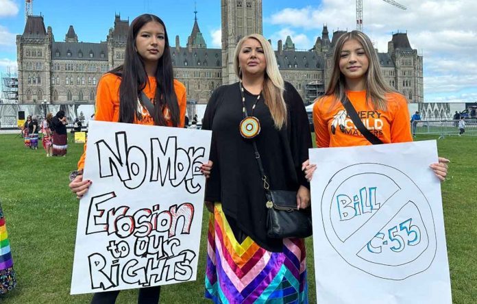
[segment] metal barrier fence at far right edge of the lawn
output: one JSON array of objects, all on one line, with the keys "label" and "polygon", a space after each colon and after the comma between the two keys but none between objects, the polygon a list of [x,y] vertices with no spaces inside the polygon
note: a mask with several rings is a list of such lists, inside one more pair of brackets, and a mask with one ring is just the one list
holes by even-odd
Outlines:
[{"label": "metal barrier fence at far right edge of the lawn", "polygon": [[477,119],[465,119],[464,132],[459,128],[459,121],[414,121],[411,123],[413,134],[436,134],[445,136],[477,136]]}]

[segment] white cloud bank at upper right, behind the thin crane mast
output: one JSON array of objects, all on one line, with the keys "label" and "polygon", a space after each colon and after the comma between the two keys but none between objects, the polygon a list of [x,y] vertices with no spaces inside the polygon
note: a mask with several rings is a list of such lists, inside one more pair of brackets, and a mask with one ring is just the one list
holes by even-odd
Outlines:
[{"label": "white cloud bank at upper right, behind the thin crane mast", "polygon": [[[400,10],[382,0],[363,0],[364,31],[380,52],[387,51],[392,33],[407,31],[413,49],[424,55],[425,95],[443,99],[474,99],[477,94],[477,1],[475,0],[397,0]],[[292,5],[291,5],[292,6]],[[330,36],[337,29],[356,28],[354,1],[323,0],[317,6],[284,8],[264,18],[275,25],[275,33],[307,34],[313,47],[323,24]],[[313,34],[309,34],[313,31]],[[280,36],[284,40],[286,36]],[[293,38],[293,37],[292,37]],[[306,43],[306,39],[300,37]],[[295,39],[293,39],[295,42]],[[297,44],[297,42],[295,42]],[[464,93],[466,90],[476,92]],[[474,95],[472,95],[474,94]],[[472,96],[472,97],[470,97]],[[440,98],[440,97],[439,97]],[[427,97],[426,97],[427,99]]]}]

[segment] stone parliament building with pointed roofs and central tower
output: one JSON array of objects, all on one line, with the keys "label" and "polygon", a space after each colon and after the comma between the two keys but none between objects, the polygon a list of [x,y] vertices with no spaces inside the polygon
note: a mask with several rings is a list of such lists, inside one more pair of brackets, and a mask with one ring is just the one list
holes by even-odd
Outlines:
[{"label": "stone parliament building with pointed roofs and central tower", "polygon": [[[129,21],[116,15],[106,41],[79,42],[73,25],[64,40],[58,41],[53,29],[45,27],[43,16],[28,16],[23,34],[16,36],[18,105],[32,105],[31,112],[42,114],[39,104],[45,101],[49,106],[61,105],[70,113],[77,105],[94,104],[101,75],[123,63],[128,28]],[[175,77],[187,88],[188,109],[206,104],[217,86],[236,81],[234,48],[241,37],[262,34],[262,0],[221,0],[221,28],[221,49],[207,47],[197,18],[185,46],[181,46],[179,36],[175,41],[169,37]],[[324,93],[332,50],[343,33],[334,31],[330,38],[328,28],[323,26],[321,36],[308,51],[295,49],[290,36],[284,43],[278,40],[275,53],[280,72],[305,103]],[[389,84],[410,102],[423,102],[423,58],[412,49],[407,34],[393,34],[387,53],[378,53],[378,57]]]}]

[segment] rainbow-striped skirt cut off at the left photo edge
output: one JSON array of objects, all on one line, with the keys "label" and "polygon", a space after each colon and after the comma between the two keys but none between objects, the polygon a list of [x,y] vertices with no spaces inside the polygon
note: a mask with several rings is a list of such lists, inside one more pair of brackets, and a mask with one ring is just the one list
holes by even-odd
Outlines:
[{"label": "rainbow-striped skirt cut off at the left photo edge", "polygon": [[7,226],[0,205],[0,294],[6,294],[16,286],[12,253],[8,242]]}]

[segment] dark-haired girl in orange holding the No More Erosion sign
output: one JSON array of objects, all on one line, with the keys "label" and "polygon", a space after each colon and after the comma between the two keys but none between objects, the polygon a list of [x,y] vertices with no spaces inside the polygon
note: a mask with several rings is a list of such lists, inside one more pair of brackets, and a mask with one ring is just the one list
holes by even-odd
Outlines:
[{"label": "dark-haired girl in orange holding the No More Erosion sign", "polygon": [[[173,77],[169,38],[164,22],[153,14],[143,14],[132,21],[127,33],[124,62],[99,80],[96,98],[96,121],[184,127],[186,87]],[[151,112],[140,101],[144,92],[151,103]],[[86,147],[85,150],[86,151]],[[93,181],[83,180],[86,152],[78,162],[78,170],[70,175],[69,187],[81,198]],[[211,164],[203,164],[206,177]],[[92,304],[116,302],[119,290],[97,292]],[[156,304],[160,286],[140,288],[138,304]]]}]

